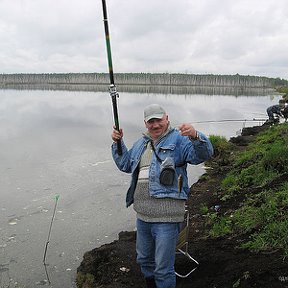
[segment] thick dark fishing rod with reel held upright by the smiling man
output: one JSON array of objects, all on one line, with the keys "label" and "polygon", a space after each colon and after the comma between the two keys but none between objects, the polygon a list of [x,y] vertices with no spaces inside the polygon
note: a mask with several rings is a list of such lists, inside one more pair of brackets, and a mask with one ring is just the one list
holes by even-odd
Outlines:
[{"label": "thick dark fishing rod with reel held upright by the smiling man", "polygon": [[[110,86],[109,92],[112,99],[113,106],[113,115],[114,115],[114,126],[117,131],[120,131],[119,118],[118,118],[118,109],[117,109],[117,98],[119,94],[117,93],[116,86],[114,83],[114,73],[113,73],[113,65],[112,65],[112,53],[111,53],[111,44],[110,44],[110,35],[109,35],[109,27],[108,27],[108,17],[107,17],[107,8],[106,1],[102,0],[103,6],[103,20],[104,20],[104,29],[105,29],[105,37],[106,37],[106,48],[107,48],[107,58],[108,58],[108,68],[109,68],[109,76],[110,76]],[[118,155],[122,155],[122,146],[121,140],[117,140],[117,153]]]}]

